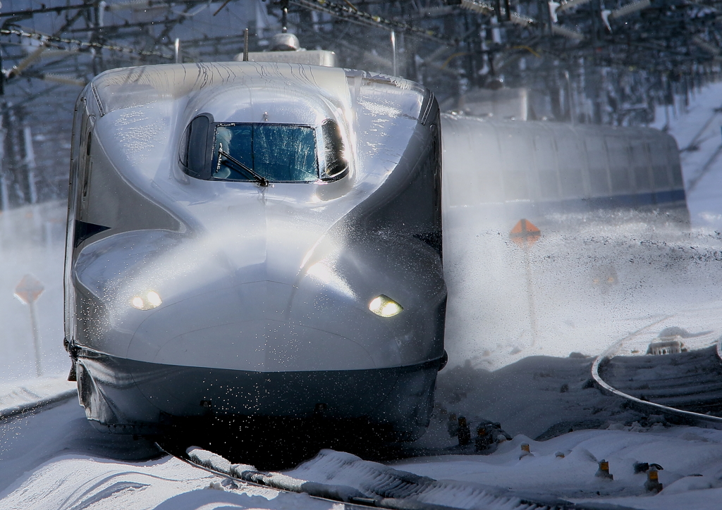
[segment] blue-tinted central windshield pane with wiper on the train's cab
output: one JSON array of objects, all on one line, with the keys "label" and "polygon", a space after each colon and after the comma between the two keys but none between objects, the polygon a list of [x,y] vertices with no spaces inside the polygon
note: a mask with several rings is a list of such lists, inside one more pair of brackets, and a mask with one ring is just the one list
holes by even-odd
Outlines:
[{"label": "blue-tinted central windshield pane with wiper on the train's cab", "polygon": [[211,177],[261,184],[318,180],[316,131],[268,123],[219,125]]}]

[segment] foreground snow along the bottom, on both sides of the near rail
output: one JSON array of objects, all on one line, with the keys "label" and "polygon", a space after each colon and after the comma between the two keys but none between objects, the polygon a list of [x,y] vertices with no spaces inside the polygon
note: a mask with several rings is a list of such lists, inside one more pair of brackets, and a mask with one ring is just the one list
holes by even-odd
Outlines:
[{"label": "foreground snow along the bottom, on both sides of the near rail", "polygon": [[[521,449],[524,443],[529,454]],[[230,483],[161,456],[144,439],[100,434],[75,400],[7,421],[0,444],[0,509],[343,508],[304,494]],[[609,462],[613,480],[596,476],[602,460]],[[661,493],[645,490],[647,475],[635,474],[635,462],[664,468],[658,471]],[[715,509],[722,496],[722,431],[618,424],[548,441],[520,434],[489,455],[418,457],[387,465],[393,470],[325,450],[285,474],[355,488],[371,498],[404,496],[458,508],[536,508],[522,504],[524,498],[588,508],[604,503],[608,509]]]}]

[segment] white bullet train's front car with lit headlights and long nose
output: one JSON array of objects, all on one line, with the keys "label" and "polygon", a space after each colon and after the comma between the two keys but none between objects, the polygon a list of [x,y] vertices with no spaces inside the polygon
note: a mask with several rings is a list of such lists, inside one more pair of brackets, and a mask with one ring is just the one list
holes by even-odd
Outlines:
[{"label": "white bullet train's front car with lit headlights and long nose", "polygon": [[446,359],[427,89],[300,63],[114,69],[80,94],[71,150],[65,345],[97,428],[422,434]]}]

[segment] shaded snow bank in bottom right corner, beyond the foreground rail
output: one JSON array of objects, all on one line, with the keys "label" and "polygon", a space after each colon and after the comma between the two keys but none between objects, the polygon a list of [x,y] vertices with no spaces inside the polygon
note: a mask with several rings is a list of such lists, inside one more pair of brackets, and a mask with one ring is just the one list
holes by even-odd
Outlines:
[{"label": "shaded snow bank in bottom right corner, beyond the foreground rail", "polygon": [[[523,454],[522,443],[530,445],[531,454]],[[601,460],[609,462],[613,480],[596,476]],[[645,490],[647,474],[635,473],[635,462],[664,467],[658,472],[661,493]],[[419,457],[392,465],[438,478],[438,483],[539,491],[582,506],[604,502],[638,509],[713,509],[722,496],[722,431],[658,425],[577,431],[549,441],[516,436],[490,455]]]}]

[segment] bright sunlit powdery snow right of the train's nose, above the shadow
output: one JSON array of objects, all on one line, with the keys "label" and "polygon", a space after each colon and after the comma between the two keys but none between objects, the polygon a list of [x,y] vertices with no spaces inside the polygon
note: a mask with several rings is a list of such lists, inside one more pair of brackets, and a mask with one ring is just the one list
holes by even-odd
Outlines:
[{"label": "bright sunlit powdery snow right of the train's nose, above the shadow", "polygon": [[560,225],[529,250],[529,271],[505,232],[474,235],[469,226],[468,239],[447,245],[450,366],[495,370],[526,356],[593,356],[664,317],[722,307],[721,234],[642,213]]}]

